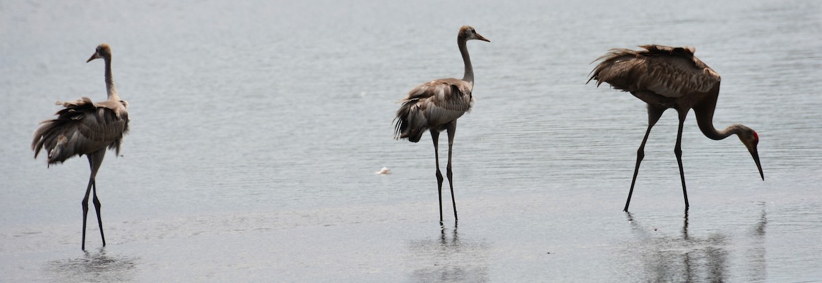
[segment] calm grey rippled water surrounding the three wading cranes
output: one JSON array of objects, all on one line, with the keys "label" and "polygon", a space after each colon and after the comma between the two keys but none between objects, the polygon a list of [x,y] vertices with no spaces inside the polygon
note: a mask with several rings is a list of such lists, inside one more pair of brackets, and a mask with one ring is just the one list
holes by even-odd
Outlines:
[{"label": "calm grey rippled water surrounding the three wading cranes", "polygon": [[[462,75],[462,25],[492,42],[469,43],[441,229],[431,139],[391,119]],[[2,1],[0,281],[822,281],[820,35],[813,0]],[[109,245],[91,220],[83,253],[87,161],[30,141],[55,100],[104,100],[103,42],[132,132],[97,176]],[[723,76],[714,123],[759,132],[764,181],[690,114],[685,214],[669,112],[621,211],[644,104],[584,82],[639,44]]]}]

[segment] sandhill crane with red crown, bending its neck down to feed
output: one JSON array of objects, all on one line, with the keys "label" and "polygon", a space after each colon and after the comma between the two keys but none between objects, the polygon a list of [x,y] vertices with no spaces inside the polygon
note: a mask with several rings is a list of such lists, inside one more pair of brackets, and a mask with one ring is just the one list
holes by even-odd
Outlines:
[{"label": "sandhill crane with red crown, bending its neck down to feed", "polygon": [[657,123],[666,109],[677,109],[679,130],[677,132],[677,155],[679,174],[682,180],[682,194],[685,196],[685,210],[688,210],[688,193],[685,188],[685,173],[682,170],[682,124],[690,109],[694,109],[696,123],[700,130],[712,140],[722,140],[733,134],[742,141],[754,158],[760,177],[764,180],[760,155],[756,144],[760,138],[756,132],[741,124],[733,124],[722,131],[713,128],[713,109],[719,95],[719,74],[694,56],[693,47],[670,47],[663,45],[643,45],[645,50],[611,49],[608,53],[594,60],[603,60],[593,68],[588,81],[596,80],[597,86],[607,82],[617,90],[630,92],[648,104],[648,130],[636,151],[634,179],[630,181],[630,196],[634,193],[636,175],[644,157],[645,141],[651,133],[653,124]]}]

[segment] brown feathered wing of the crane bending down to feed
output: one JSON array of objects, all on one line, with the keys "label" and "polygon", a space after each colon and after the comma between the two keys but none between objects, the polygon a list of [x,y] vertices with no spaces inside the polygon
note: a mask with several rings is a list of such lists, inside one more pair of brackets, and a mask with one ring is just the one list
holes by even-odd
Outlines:
[{"label": "brown feathered wing of the crane bending down to feed", "polygon": [[597,80],[597,86],[607,82],[619,90],[648,90],[672,98],[707,92],[720,81],[716,72],[694,56],[693,48],[641,47],[646,50],[611,49],[597,59],[603,61],[594,67],[589,81]]}]

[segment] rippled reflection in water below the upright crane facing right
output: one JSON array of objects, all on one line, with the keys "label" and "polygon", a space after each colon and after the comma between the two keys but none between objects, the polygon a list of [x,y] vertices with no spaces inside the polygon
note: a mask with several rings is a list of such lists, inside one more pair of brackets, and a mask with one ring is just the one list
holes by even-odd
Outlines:
[{"label": "rippled reflection in water below the upright crane facing right", "polygon": [[[413,262],[412,281],[419,282],[487,282],[488,245],[484,242],[459,238],[457,226],[453,230],[441,226],[436,239],[410,243]],[[418,262],[418,263],[417,263]]]}]

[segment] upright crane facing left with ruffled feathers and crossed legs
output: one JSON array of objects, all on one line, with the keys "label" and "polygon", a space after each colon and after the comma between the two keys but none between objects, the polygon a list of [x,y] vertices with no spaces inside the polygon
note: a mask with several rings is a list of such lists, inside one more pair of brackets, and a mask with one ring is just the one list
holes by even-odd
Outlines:
[{"label": "upright crane facing left with ruffled feathers and crossed legs", "polygon": [[100,218],[100,202],[97,198],[97,184],[95,176],[103,162],[106,147],[120,153],[122,136],[128,132],[128,113],[126,101],[120,100],[117,89],[114,88],[114,78],[111,73],[111,48],[109,44],[99,44],[91,60],[103,58],[105,61],[105,85],[109,100],[92,102],[83,97],[75,102],[59,102],[65,107],[56,114],[58,117],[40,123],[35,132],[35,140],[31,142],[31,149],[35,151],[35,159],[40,149],[45,147],[48,153],[48,165],[62,163],[74,155],[86,155],[91,167],[89,186],[83,197],[83,239],[81,248],[85,250],[85,218],[89,211],[89,193],[92,192],[97,224],[100,229],[100,238],[105,246],[103,234],[103,220]]}]

